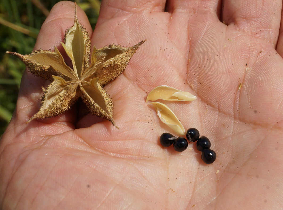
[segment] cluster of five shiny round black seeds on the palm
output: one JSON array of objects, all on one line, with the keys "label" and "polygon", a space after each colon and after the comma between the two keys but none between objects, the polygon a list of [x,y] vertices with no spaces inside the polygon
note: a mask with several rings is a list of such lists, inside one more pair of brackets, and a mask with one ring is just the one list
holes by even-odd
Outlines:
[{"label": "cluster of five shiny round black seeds on the palm", "polygon": [[163,133],[160,135],[160,143],[164,147],[171,146],[173,144],[174,150],[177,152],[183,152],[188,147],[189,142],[196,141],[197,150],[201,151],[201,159],[206,164],[211,164],[216,159],[215,151],[210,149],[211,143],[205,136],[200,137],[200,132],[196,128],[189,128],[186,131],[186,138],[175,137],[170,133]]}]

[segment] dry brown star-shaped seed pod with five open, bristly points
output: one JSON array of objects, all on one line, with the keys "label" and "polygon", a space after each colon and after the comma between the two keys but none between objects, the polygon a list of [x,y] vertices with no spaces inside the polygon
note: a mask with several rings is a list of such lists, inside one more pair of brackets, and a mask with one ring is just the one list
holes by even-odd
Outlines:
[{"label": "dry brown star-shaped seed pod with five open, bristly points", "polygon": [[33,75],[52,81],[46,89],[42,87],[44,95],[40,110],[27,123],[33,119],[60,115],[81,97],[91,113],[116,126],[112,99],[102,87],[121,75],[138,47],[145,41],[129,48],[120,45],[100,49],[94,47],[89,64],[90,38],[78,21],[75,3],[74,25],[65,32],[65,43],[61,42],[72,61],[73,69],[64,62],[56,46],[54,52],[42,49],[29,55],[7,52],[18,56]]}]

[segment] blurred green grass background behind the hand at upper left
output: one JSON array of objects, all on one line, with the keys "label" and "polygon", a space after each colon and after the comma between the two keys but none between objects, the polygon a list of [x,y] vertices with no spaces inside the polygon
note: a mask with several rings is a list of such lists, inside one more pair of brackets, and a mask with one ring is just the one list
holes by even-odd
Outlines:
[{"label": "blurred green grass background behind the hand at upper left", "polygon": [[[76,1],[94,29],[101,0]],[[6,51],[29,54],[42,23],[56,0],[1,0],[0,2],[0,136],[5,131],[16,100],[25,65]]]}]

